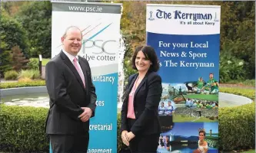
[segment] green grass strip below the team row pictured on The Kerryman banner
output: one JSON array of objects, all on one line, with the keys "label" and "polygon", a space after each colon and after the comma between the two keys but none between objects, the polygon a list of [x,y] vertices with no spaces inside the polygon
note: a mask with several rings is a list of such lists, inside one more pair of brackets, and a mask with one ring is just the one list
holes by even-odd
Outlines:
[{"label": "green grass strip below the team row pictured on The Kerryman banner", "polygon": [[175,113],[172,116],[173,122],[218,122],[218,119],[211,120],[205,117],[198,119],[196,117],[176,115]]}]

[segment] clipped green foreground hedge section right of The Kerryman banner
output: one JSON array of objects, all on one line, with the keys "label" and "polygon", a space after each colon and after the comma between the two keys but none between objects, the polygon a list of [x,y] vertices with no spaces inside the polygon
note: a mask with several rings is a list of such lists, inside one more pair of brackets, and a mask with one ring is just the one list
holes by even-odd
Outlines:
[{"label": "clipped green foreground hedge section right of The Kerryman banner", "polygon": [[219,148],[234,150],[255,145],[255,103],[232,108],[220,108]]}]

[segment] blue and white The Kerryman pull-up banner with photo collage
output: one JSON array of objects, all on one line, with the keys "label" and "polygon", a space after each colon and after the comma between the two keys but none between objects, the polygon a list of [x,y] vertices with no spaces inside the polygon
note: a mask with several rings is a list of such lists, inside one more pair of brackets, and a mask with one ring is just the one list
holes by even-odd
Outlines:
[{"label": "blue and white The Kerryman pull-up banner with photo collage", "polygon": [[147,5],[163,86],[158,152],[218,152],[220,18],[216,5]]}]

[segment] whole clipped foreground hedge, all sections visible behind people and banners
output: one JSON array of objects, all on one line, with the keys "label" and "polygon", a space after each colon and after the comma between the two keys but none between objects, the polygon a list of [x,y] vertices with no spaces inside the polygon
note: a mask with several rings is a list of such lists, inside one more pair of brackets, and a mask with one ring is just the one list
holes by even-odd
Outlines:
[{"label": "whole clipped foreground hedge, all sections visible behind people and banners", "polygon": [[[221,150],[254,148],[255,103],[219,109],[219,145]],[[0,146],[8,151],[48,151],[45,118],[48,109],[1,105]],[[118,114],[118,151],[121,142]],[[3,150],[3,148],[2,148]]]}]

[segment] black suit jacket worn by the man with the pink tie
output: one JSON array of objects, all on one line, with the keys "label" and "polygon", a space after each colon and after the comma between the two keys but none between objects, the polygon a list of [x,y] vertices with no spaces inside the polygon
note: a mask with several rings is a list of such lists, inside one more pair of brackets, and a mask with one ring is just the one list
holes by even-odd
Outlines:
[{"label": "black suit jacket worn by the man with the pink tie", "polygon": [[[45,82],[50,97],[46,120],[47,134],[83,134],[88,132],[89,121],[81,122],[78,116],[89,107],[95,115],[97,96],[91,82],[91,69],[85,58],[78,57],[85,76],[85,87],[71,60],[61,51],[45,67]],[[91,116],[91,117],[92,117]]]}]

